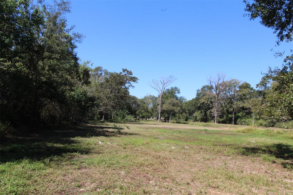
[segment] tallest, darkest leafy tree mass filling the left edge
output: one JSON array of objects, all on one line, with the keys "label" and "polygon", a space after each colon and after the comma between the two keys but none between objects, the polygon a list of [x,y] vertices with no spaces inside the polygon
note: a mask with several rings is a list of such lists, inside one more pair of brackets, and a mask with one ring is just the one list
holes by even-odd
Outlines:
[{"label": "tallest, darkest leafy tree mass filling the left edge", "polygon": [[14,126],[72,121],[82,109],[72,105],[85,95],[76,86],[88,84],[89,68],[75,52],[82,35],[67,27],[69,2],[4,0],[0,10],[1,120]]}]

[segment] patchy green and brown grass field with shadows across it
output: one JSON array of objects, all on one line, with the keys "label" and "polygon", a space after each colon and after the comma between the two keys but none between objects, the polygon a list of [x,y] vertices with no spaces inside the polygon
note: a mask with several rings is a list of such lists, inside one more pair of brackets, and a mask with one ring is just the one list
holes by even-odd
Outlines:
[{"label": "patchy green and brown grass field with shadows across it", "polygon": [[1,140],[0,194],[293,194],[292,131],[128,125]]}]

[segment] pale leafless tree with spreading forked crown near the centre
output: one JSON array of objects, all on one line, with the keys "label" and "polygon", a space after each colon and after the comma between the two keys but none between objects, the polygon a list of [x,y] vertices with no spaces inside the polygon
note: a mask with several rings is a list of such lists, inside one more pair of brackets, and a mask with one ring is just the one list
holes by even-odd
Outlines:
[{"label": "pale leafless tree with spreading forked crown near the centre", "polygon": [[167,86],[171,85],[176,78],[173,76],[168,76],[168,77],[162,77],[159,81],[152,79],[153,84],[150,84],[151,88],[154,88],[159,92],[159,119],[158,121],[161,121],[161,104],[162,104],[162,95],[166,89]]}]

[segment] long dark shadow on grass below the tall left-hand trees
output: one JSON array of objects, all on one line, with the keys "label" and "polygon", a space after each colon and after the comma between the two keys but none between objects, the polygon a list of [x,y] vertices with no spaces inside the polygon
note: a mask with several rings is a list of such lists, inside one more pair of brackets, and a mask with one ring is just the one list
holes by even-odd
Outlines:
[{"label": "long dark shadow on grass below the tall left-hand trees", "polygon": [[70,153],[88,154],[93,145],[80,142],[75,137],[92,136],[123,136],[135,135],[121,132],[117,135],[110,131],[113,127],[83,125],[71,128],[57,128],[35,133],[21,134],[21,136],[7,137],[1,140],[0,162],[13,162],[23,158],[41,160],[51,156],[64,156]]}]

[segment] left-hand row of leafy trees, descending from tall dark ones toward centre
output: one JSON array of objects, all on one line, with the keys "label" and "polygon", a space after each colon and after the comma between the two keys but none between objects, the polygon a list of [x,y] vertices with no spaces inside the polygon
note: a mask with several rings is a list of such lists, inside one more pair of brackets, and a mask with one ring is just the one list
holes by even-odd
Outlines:
[{"label": "left-hand row of leafy trees, descending from tall dark ones toward centre", "polygon": [[68,1],[1,1],[1,125],[40,127],[88,119],[122,109],[137,78],[132,72],[91,69],[68,27]]}]

